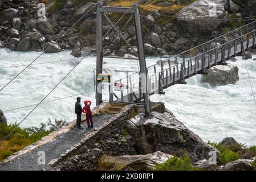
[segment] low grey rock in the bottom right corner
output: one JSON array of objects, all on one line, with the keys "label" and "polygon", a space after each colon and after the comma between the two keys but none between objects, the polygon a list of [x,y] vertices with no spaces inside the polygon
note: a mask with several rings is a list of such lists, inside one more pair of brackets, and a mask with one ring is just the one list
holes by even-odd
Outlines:
[{"label": "low grey rock in the bottom right corner", "polygon": [[238,159],[219,167],[218,171],[251,171],[253,162],[254,160],[251,159]]}]

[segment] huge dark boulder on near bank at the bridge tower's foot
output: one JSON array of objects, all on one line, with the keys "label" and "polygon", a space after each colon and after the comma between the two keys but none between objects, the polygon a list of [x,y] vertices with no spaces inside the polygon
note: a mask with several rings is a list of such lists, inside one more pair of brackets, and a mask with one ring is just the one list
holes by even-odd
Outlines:
[{"label": "huge dark boulder on near bank at the bridge tower's foot", "polygon": [[138,114],[127,121],[126,128],[135,139],[139,154],[162,151],[170,155],[189,155],[192,162],[209,159],[210,151],[218,154],[216,148],[205,143],[168,110],[164,113],[153,111],[151,119]]}]

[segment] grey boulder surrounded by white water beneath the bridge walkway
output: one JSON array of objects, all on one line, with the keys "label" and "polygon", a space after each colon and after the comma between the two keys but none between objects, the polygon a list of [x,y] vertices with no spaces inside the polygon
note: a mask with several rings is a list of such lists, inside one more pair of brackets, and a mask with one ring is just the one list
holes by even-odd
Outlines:
[{"label": "grey boulder surrounded by white water beneath the bridge walkway", "polygon": [[235,84],[239,80],[238,67],[235,65],[216,65],[202,76],[202,82],[208,82],[211,86]]}]

